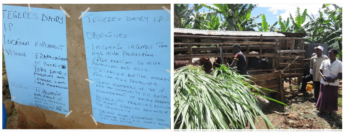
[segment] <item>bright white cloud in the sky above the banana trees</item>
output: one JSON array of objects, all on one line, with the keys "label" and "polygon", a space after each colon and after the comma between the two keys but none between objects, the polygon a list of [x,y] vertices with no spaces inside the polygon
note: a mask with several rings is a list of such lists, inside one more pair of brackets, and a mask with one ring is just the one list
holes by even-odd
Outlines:
[{"label": "bright white cloud in the sky above the banana trees", "polygon": [[[341,4],[338,4],[340,7]],[[311,16],[318,17],[319,16],[319,9],[323,11],[322,9],[323,4],[259,4],[258,7],[269,7],[267,11],[272,12],[272,14],[278,14],[278,10],[280,12],[280,16],[282,16],[283,19],[286,19],[287,17],[290,17],[290,13],[292,17],[295,17],[297,7],[300,8],[300,13],[302,14],[304,9],[307,9],[307,14]],[[279,16],[277,16],[277,19]],[[306,24],[309,21],[309,18],[306,18],[306,21],[304,24]]]}]

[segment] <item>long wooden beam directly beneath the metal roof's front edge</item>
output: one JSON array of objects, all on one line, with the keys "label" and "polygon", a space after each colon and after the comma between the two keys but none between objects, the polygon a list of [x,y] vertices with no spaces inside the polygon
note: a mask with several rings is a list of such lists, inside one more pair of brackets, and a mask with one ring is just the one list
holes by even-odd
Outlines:
[{"label": "long wooden beam directly beneath the metal roof's front edge", "polygon": [[[202,35],[174,35],[174,37],[177,38],[205,38],[205,39],[240,39],[240,40],[248,40],[248,39],[260,39],[260,37],[229,37],[229,36],[202,36]],[[275,40],[275,39],[282,39],[282,40],[303,40],[303,38],[262,38],[263,40]]]}]

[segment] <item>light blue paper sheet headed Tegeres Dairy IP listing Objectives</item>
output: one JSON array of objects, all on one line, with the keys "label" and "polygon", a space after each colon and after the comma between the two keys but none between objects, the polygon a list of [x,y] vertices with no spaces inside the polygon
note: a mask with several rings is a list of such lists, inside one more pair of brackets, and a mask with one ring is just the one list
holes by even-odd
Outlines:
[{"label": "light blue paper sheet headed Tegeres Dairy IP listing Objectives", "polygon": [[87,12],[82,17],[97,122],[170,128],[170,22],[165,10]]}]

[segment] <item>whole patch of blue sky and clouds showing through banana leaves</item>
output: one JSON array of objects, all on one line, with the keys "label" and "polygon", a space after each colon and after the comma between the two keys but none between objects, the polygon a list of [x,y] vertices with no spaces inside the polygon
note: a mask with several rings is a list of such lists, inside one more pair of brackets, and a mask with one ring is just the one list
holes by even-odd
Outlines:
[{"label": "whole patch of blue sky and clouds showing through banana leaves", "polygon": [[[189,7],[192,6],[193,4],[190,4]],[[257,16],[263,12],[263,14],[266,16],[266,21],[268,22],[268,24],[272,25],[276,21],[279,21],[279,15],[282,16],[283,20],[286,20],[287,17],[290,17],[290,13],[294,17],[297,7],[300,8],[301,14],[303,13],[304,9],[307,9],[307,14],[313,14],[315,17],[317,17],[318,10],[320,9],[321,11],[323,11],[323,9],[321,9],[322,6],[323,4],[259,4],[258,7],[251,11],[251,17]],[[342,5],[339,4],[339,6]],[[208,8],[203,7],[199,10],[199,12],[203,12],[203,10],[206,12],[209,11]],[[261,16],[255,20],[256,23],[260,23],[261,21]],[[308,21],[309,18],[306,18],[304,24]],[[279,27],[279,24],[277,24],[276,27]],[[255,28],[255,30],[258,31],[257,28]]]}]

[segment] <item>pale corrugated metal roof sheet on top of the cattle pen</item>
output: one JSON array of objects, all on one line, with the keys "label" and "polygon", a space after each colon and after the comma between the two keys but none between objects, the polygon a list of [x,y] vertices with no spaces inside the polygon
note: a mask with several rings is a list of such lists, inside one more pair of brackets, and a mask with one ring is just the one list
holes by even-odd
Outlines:
[{"label": "pale corrugated metal roof sheet on top of the cattle pen", "polygon": [[232,36],[285,36],[282,33],[277,32],[255,32],[255,31],[209,31],[209,30],[196,30],[187,28],[174,28],[174,33],[190,33],[190,34],[203,34],[203,35],[232,35]]}]

